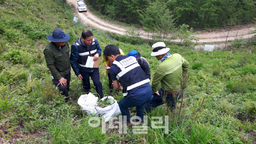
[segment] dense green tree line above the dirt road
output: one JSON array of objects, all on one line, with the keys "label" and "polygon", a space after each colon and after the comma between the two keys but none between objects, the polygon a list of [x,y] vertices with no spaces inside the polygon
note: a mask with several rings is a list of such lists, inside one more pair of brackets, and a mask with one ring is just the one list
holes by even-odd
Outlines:
[{"label": "dense green tree line above the dirt road", "polygon": [[[87,0],[96,10],[121,22],[140,24],[145,30],[187,24],[193,28],[251,23],[256,0]],[[167,29],[166,29],[167,28]]]}]

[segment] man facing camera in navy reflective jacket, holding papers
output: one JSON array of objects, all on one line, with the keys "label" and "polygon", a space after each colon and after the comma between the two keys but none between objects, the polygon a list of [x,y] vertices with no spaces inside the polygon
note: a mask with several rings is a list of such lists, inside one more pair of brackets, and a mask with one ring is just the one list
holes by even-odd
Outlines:
[{"label": "man facing camera in navy reflective jacket, holding papers", "polygon": [[97,38],[93,37],[90,30],[82,31],[81,37],[71,45],[70,63],[75,75],[82,79],[82,88],[88,93],[90,92],[90,80],[93,81],[96,92],[102,98],[102,84],[99,81],[98,68],[85,67],[87,57],[93,56],[93,61],[97,60],[101,55],[101,48],[98,44]]}]

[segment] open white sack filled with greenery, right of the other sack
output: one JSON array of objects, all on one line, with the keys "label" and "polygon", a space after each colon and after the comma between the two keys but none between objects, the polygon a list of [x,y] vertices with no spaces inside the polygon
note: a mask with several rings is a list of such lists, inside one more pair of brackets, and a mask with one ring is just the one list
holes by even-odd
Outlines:
[{"label": "open white sack filled with greenery, right of the other sack", "polygon": [[[103,98],[101,98],[100,100],[104,100],[105,98],[111,98],[114,100],[114,98],[112,96],[105,96]],[[113,118],[115,115],[118,115],[121,111],[119,109],[118,103],[116,100],[114,100],[114,103],[111,105],[108,105],[106,107],[98,107],[97,105],[95,106],[95,109],[97,110],[97,112],[99,114],[101,114],[104,118],[105,121],[110,120],[111,118]]]}]

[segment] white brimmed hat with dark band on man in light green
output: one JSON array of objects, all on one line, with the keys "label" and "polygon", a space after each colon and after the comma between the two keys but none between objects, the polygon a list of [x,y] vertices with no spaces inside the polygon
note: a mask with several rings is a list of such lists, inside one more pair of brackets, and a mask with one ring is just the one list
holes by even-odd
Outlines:
[{"label": "white brimmed hat with dark band on man in light green", "polygon": [[156,42],[152,45],[152,52],[150,56],[158,56],[170,51],[169,47],[166,47],[164,42]]}]

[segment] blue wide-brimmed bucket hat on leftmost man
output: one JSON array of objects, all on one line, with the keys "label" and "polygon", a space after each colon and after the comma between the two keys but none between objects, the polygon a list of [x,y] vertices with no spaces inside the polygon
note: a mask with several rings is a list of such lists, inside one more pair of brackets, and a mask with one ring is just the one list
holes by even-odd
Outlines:
[{"label": "blue wide-brimmed bucket hat on leftmost man", "polygon": [[61,29],[54,29],[52,34],[46,36],[46,38],[52,42],[63,42],[70,38],[70,35],[64,33]]}]

